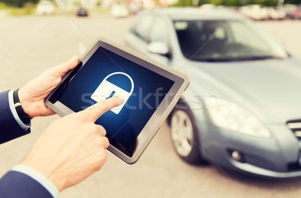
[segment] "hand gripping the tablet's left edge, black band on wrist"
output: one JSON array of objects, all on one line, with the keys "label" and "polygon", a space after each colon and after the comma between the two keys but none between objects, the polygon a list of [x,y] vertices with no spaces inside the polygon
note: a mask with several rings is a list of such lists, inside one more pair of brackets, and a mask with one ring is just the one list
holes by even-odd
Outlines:
[{"label": "hand gripping the tablet's left edge, black band on wrist", "polygon": [[62,77],[78,64],[78,57],[73,56],[67,62],[57,65],[43,72],[37,78],[29,81],[18,91],[20,104],[29,115],[34,118],[37,116],[54,115],[51,109],[45,106],[44,99],[49,93],[59,85]]}]

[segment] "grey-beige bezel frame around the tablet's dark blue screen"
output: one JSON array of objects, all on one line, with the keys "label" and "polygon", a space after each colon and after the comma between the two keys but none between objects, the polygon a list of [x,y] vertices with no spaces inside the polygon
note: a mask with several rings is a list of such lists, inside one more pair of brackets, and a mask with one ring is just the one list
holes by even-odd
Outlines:
[{"label": "grey-beige bezel frame around the tablet's dark blue screen", "polygon": [[[56,101],[55,103],[50,102],[50,98],[53,95],[53,93],[61,88],[61,86],[64,83],[64,81],[70,76],[69,82],[72,80],[72,78],[76,75],[76,73],[80,70],[81,67],[85,65],[85,63],[89,60],[89,58],[95,53],[95,51],[98,49],[98,47],[105,48],[119,56],[122,56],[132,62],[135,62],[139,64],[140,66],[150,69],[156,73],[159,73],[162,76],[165,76],[173,81],[175,81],[174,85],[171,87],[167,95],[165,96],[161,104],[158,106],[155,113],[150,117],[148,122],[143,127],[142,131],[136,138],[136,149],[132,153],[132,156],[126,155],[121,150],[117,149],[117,145],[112,145],[108,147],[108,150],[122,159],[124,162],[128,164],[135,163],[139,157],[142,155],[150,141],[154,138],[156,133],[159,131],[160,126],[163,124],[163,122],[166,120],[168,115],[171,113],[175,105],[177,104],[180,96],[186,90],[186,88],[189,85],[189,77],[171,67],[168,67],[162,63],[159,63],[157,61],[154,61],[146,56],[143,56],[133,50],[126,49],[124,47],[121,47],[111,41],[107,41],[103,38],[98,38],[95,40],[95,42],[86,50],[86,52],[81,56],[80,61],[78,65],[71,71],[69,71],[63,78],[61,83],[45,98],[45,105],[52,109],[54,112],[56,112],[60,116],[66,116],[68,114],[73,113],[71,109],[60,103],[59,101]],[[77,71],[76,71],[77,70]],[[68,83],[69,83],[68,82]]]}]

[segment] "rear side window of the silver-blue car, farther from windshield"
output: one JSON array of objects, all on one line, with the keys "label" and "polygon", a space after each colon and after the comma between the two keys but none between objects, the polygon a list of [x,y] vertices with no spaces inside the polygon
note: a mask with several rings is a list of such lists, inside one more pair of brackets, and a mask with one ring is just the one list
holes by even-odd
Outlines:
[{"label": "rear side window of the silver-blue car, farther from windshield", "polygon": [[140,39],[145,40],[149,31],[150,25],[152,25],[154,17],[151,15],[141,16],[136,23],[134,33]]}]

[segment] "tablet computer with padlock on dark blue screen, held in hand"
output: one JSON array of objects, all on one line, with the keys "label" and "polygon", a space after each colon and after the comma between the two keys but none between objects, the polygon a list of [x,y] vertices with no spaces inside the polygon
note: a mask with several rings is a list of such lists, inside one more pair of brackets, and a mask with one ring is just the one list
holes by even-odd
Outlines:
[{"label": "tablet computer with padlock on dark blue screen, held in hand", "polygon": [[97,39],[46,97],[60,116],[82,111],[100,100],[122,95],[124,103],[103,114],[108,150],[135,163],[189,85],[189,78],[166,65]]}]

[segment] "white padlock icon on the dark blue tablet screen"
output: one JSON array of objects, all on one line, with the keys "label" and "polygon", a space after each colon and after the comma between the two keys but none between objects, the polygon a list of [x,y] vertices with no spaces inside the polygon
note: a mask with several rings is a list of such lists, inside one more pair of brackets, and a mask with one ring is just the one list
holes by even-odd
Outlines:
[{"label": "white padlock icon on the dark blue tablet screen", "polygon": [[[128,77],[128,79],[131,82],[131,88],[130,88],[129,92],[125,91],[124,89],[122,89],[122,88],[116,86],[115,84],[107,81],[108,77],[110,77],[112,75],[116,75],[116,74],[122,74],[122,75],[125,75],[126,77]],[[124,102],[121,105],[119,105],[118,107],[115,107],[115,108],[110,110],[115,114],[119,114],[119,112],[121,111],[121,109],[123,108],[125,103],[127,102],[129,96],[132,94],[133,90],[134,90],[134,82],[133,82],[133,79],[128,74],[126,74],[124,72],[114,72],[114,73],[111,73],[111,74],[107,75],[102,80],[102,82],[99,84],[97,89],[91,95],[91,99],[98,103],[99,101],[110,98],[113,95],[123,96]]]}]

